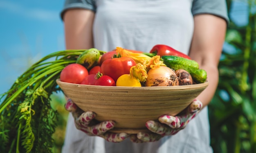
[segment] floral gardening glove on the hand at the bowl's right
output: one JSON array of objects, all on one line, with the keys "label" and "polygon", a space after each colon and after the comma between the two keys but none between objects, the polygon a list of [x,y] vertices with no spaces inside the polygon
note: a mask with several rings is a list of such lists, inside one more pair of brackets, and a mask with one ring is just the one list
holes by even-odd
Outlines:
[{"label": "floral gardening glove on the hand at the bowl's right", "polygon": [[153,133],[139,132],[137,135],[131,135],[130,140],[135,143],[154,142],[164,136],[171,136],[184,129],[196,114],[202,109],[202,102],[195,99],[178,116],[163,115],[158,118],[159,122],[149,120],[146,127]]}]

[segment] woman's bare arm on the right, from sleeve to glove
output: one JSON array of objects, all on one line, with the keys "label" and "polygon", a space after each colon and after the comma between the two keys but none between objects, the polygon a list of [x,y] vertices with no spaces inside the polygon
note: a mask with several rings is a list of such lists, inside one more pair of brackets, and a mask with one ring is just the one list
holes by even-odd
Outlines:
[{"label": "woman's bare arm on the right, from sleeve to glove", "polygon": [[197,61],[201,69],[207,71],[209,86],[197,97],[207,106],[218,85],[218,63],[225,41],[227,22],[209,14],[195,15],[194,35],[189,56]]}]

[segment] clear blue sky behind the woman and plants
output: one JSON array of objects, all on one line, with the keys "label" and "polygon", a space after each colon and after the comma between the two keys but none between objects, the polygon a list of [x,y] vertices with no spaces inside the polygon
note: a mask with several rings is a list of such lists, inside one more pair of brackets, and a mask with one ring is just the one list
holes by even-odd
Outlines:
[{"label": "clear blue sky behind the woman and plants", "polygon": [[[64,0],[0,0],[0,94],[49,53],[65,50],[60,11]],[[231,19],[247,24],[246,5],[236,1]]]}]

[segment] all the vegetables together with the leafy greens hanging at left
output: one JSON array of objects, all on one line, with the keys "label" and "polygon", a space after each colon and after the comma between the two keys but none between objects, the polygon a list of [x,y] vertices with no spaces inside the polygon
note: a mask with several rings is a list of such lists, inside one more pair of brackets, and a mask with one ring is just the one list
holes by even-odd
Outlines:
[{"label": "all the vegetables together with the leafy greens hanging at left", "polygon": [[63,82],[126,87],[204,83],[207,74],[189,56],[166,45],[150,53],[117,47],[110,52],[64,50],[47,55],[0,95],[0,152],[50,153],[57,111],[50,105]]}]

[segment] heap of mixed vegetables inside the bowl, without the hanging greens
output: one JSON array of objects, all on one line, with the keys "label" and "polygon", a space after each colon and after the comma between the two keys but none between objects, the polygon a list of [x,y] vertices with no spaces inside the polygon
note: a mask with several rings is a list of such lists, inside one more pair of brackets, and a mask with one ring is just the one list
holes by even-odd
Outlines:
[{"label": "heap of mixed vegetables inside the bowl, without the hanging greens", "polygon": [[206,81],[207,74],[196,61],[168,47],[156,45],[150,53],[117,47],[101,56],[96,48],[91,48],[76,63],[63,69],[60,81],[125,87],[192,85]]}]

